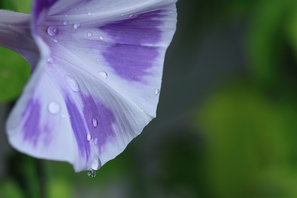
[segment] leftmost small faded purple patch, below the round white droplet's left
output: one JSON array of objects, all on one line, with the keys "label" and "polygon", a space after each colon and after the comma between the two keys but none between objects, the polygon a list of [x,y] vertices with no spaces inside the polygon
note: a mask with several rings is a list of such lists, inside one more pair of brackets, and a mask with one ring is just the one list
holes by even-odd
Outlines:
[{"label": "leftmost small faded purple patch, below the round white droplet's left", "polygon": [[38,100],[33,101],[31,98],[22,114],[22,118],[27,116],[27,120],[23,126],[24,140],[33,141],[36,146],[37,139],[41,133],[40,130],[40,103]]}]

